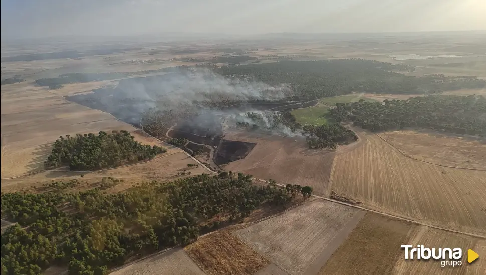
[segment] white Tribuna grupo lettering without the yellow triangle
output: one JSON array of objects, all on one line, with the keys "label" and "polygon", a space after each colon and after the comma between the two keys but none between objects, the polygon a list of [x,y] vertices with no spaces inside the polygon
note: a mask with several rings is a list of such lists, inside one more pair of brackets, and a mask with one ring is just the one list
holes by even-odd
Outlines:
[{"label": "white Tribuna grupo lettering without the yellow triangle", "polygon": [[413,245],[400,246],[405,250],[405,260],[440,260],[440,266],[460,266],[462,265],[462,249],[461,248],[427,248],[423,245],[417,245],[412,248]]}]

